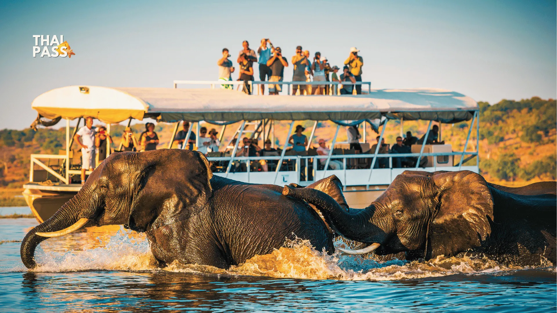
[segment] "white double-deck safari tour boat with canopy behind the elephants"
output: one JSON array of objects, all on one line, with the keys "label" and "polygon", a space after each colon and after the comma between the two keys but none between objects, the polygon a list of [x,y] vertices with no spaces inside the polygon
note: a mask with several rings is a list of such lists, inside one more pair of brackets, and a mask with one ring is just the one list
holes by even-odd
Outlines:
[{"label": "white double-deck safari tour boat with canopy behind the elephants", "polygon": [[[331,90],[338,90],[338,82],[327,82]],[[209,88],[178,88],[178,85],[209,85]],[[478,141],[478,104],[468,96],[455,91],[419,88],[419,89],[380,89],[373,90],[369,82],[356,82],[368,85],[368,91],[361,95],[247,95],[241,91],[221,88],[222,81],[174,81],[172,88],[143,87],[101,87],[101,86],[66,86],[47,91],[36,97],[32,108],[38,114],[38,123],[43,119],[66,120],[66,149],[59,154],[31,154],[29,182],[23,195],[38,222],[50,218],[57,210],[73,197],[81,188],[79,180],[72,177],[81,173],[79,155],[72,153],[71,144],[77,127],[71,130],[70,121],[91,116],[106,123],[108,133],[110,125],[128,120],[153,118],[159,122],[174,123],[174,138],[182,121],[194,123],[189,128],[186,138],[196,126],[199,139],[199,122],[221,127],[221,146],[219,152],[209,152],[208,160],[212,162],[214,175],[258,184],[290,184],[309,185],[316,180],[335,174],[343,183],[345,197],[350,207],[365,207],[386,188],[393,179],[404,170],[471,170],[479,172],[479,155],[477,151],[466,151],[472,134],[476,128]],[[227,82],[230,85],[243,84],[239,81]],[[258,84],[265,81],[251,82],[252,90],[259,90]],[[323,82],[282,82],[290,87],[295,84],[316,85]],[[217,86],[217,87],[216,87]],[[334,94],[334,92],[331,92]],[[285,134],[273,138],[275,121],[289,121],[289,130]],[[304,153],[294,153],[285,149],[285,143],[293,134],[296,121],[315,121]],[[451,145],[412,146],[412,153],[389,154],[369,149],[369,132],[373,129],[383,138],[385,127],[391,120],[429,121],[426,138],[432,123],[457,123],[472,120],[463,151],[453,151]],[[333,121],[336,131],[327,143],[331,148],[328,155],[319,155],[311,148],[318,121]],[[241,123],[238,123],[241,122]],[[238,123],[233,138],[241,138],[245,134],[251,138],[265,141],[273,139],[272,145],[277,149],[275,155],[234,156],[238,151],[238,141],[222,142],[222,135],[227,125]],[[341,126],[362,125],[363,137],[360,145],[368,153],[356,154],[346,149],[346,143],[337,141]],[[278,140],[277,140],[278,139]],[[375,142],[375,141],[374,141]],[[282,143],[282,149],[280,149]],[[197,145],[196,145],[197,146]],[[287,145],[286,145],[287,146]],[[478,142],[476,142],[476,149]],[[168,148],[172,147],[172,141]],[[182,145],[177,149],[185,149]],[[344,148],[344,149],[343,149]],[[228,153],[221,152],[229,150]],[[110,148],[107,149],[110,154]],[[107,155],[108,156],[108,155]],[[417,158],[416,167],[393,168],[393,158]],[[458,162],[456,162],[458,157]],[[388,159],[388,167],[377,168],[380,159]],[[427,158],[425,168],[418,168],[420,160]],[[467,160],[476,158],[476,165],[465,166]],[[325,159],[325,162],[319,161]],[[247,164],[265,160],[268,171],[255,170]],[[338,160],[343,169],[332,169],[331,160]],[[383,162],[386,164],[387,162]],[[244,164],[243,167],[239,166]],[[422,162],[423,164],[423,162]],[[89,171],[86,174],[90,174]]]}]

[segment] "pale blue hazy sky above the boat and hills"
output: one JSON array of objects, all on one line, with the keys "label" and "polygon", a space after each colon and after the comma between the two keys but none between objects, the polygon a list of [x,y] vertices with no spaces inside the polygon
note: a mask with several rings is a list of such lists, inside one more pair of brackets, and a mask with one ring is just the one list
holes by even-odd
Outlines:
[{"label": "pale blue hazy sky above the boat and hills", "polygon": [[[222,48],[236,63],[261,38],[289,62],[301,45],[339,67],[356,47],[373,89],[557,97],[555,1],[0,1],[0,30],[0,129],[27,128],[33,99],[57,87],[216,80]],[[33,35],[63,35],[75,55],[33,57]]]}]

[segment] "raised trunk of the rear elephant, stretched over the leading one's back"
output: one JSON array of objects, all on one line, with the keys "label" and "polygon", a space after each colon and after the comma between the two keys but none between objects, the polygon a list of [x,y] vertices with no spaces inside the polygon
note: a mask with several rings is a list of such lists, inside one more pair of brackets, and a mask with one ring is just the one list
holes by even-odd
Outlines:
[{"label": "raised trunk of the rear elephant, stretched over the leading one's back", "polygon": [[364,243],[385,242],[385,232],[373,223],[375,213],[373,205],[365,209],[346,211],[328,194],[310,188],[285,186],[282,194],[313,204],[323,213],[325,221],[331,228],[348,239]]}]

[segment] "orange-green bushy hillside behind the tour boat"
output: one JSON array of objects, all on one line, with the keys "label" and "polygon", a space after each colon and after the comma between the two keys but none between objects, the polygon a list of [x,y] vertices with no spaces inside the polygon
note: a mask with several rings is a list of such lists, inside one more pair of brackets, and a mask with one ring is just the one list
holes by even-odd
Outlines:
[{"label": "orange-green bushy hillside behind the tour boat", "polygon": [[[490,182],[504,185],[520,185],[526,182],[540,180],[555,180],[556,178],[556,101],[543,100],[532,97],[520,101],[501,100],[490,105],[479,102],[480,105],[480,169]],[[468,128],[471,121],[456,124],[442,124],[442,139],[452,144],[453,151],[462,150],[465,145]],[[239,123],[238,123],[239,124]],[[228,143],[238,124],[228,125],[224,140]],[[313,121],[300,121],[306,127],[305,134],[310,135]],[[415,136],[426,133],[428,121],[404,121],[403,133],[410,130]],[[221,128],[206,125],[207,128]],[[55,126],[56,127],[56,126]],[[167,148],[173,131],[173,124],[159,123],[155,131],[159,134],[161,143],[159,148]],[[276,141],[284,143],[284,137],[289,128],[289,121],[276,122]],[[73,130],[73,128],[71,129]],[[113,147],[118,148],[120,136],[124,130],[122,125],[112,125],[111,133],[115,140]],[[144,130],[143,124],[133,126],[134,133]],[[333,138],[336,124],[329,121],[319,123],[314,136],[317,139],[330,140]],[[400,121],[392,120],[385,129],[385,141],[395,143],[400,134]],[[375,143],[374,133],[368,126],[367,139]],[[346,131],[341,128],[338,141],[346,140]],[[260,143],[262,145],[262,143]],[[222,148],[222,146],[221,146]],[[28,180],[30,154],[57,154],[65,149],[65,128],[41,128],[37,131],[0,130],[0,186],[19,188]],[[72,149],[77,149],[74,143]],[[473,129],[467,151],[476,151],[476,130]],[[460,157],[455,158],[458,162]],[[475,165],[476,158],[472,158],[465,165]]]}]

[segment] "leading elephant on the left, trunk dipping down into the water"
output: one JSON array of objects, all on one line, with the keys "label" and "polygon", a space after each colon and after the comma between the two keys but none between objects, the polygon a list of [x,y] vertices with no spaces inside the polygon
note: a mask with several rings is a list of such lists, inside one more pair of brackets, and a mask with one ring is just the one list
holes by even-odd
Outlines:
[{"label": "leading elephant on the left, trunk dipping down into the water", "polygon": [[[330,186],[322,180],[313,187]],[[295,236],[319,251],[335,251],[319,214],[283,195],[282,187],[213,175],[198,151],[160,149],[111,154],[73,198],[27,233],[21,260],[34,268],[35,248],[46,238],[109,224],[145,232],[160,265],[178,260],[228,268]]]}]

